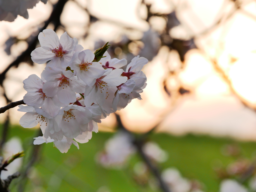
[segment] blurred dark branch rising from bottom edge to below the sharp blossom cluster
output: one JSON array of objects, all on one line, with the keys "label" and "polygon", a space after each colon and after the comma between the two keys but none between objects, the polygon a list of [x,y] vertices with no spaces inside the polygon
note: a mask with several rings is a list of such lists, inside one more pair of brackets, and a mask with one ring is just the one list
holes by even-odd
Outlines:
[{"label": "blurred dark branch rising from bottom edge to below the sharp blossom cluster", "polygon": [[[125,129],[125,127],[122,124],[122,121],[120,119],[120,116],[116,115],[116,120],[118,122],[118,127],[121,128],[122,130],[124,130],[125,132],[127,132],[128,134],[132,135],[132,133],[130,131],[128,131],[127,129]],[[150,131],[151,132],[151,131]],[[147,135],[147,133],[145,134]],[[151,160],[148,158],[148,156],[144,153],[142,147],[144,144],[145,139],[137,139],[134,138],[133,144],[137,149],[137,152],[140,154],[140,156],[142,157],[143,161],[146,163],[146,165],[148,166],[148,168],[151,170],[151,172],[153,173],[153,175],[157,178],[160,188],[164,191],[164,192],[171,192],[170,189],[168,188],[168,186],[166,185],[166,183],[163,181],[160,171],[158,170],[158,168],[151,162]]]}]

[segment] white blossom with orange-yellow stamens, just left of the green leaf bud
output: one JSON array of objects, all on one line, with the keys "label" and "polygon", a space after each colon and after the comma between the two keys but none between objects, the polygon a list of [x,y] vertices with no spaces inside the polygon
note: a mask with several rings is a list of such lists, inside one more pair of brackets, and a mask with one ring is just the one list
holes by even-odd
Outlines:
[{"label": "white blossom with orange-yellow stamens, just left of the green leaf bud", "polygon": [[99,62],[92,62],[94,54],[90,50],[76,52],[70,61],[71,70],[75,70],[76,75],[88,86],[95,84],[96,79],[104,74],[104,69]]}]

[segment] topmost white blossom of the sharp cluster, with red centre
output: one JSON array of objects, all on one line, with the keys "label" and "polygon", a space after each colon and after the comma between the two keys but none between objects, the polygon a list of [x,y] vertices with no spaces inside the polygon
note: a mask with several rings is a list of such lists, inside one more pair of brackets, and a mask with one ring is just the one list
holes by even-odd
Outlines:
[{"label": "topmost white blossom of the sharp cluster, with red centre", "polygon": [[31,59],[35,63],[44,64],[51,60],[47,65],[52,67],[68,66],[74,54],[74,40],[68,36],[67,32],[58,38],[52,29],[45,29],[38,35],[41,47],[31,52]]}]

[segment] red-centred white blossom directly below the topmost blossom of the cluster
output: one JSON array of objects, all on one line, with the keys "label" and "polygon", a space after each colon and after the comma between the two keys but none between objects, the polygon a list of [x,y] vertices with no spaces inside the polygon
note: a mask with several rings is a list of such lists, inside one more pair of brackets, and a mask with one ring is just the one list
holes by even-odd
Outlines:
[{"label": "red-centred white blossom directly below the topmost blossom of the cluster", "polygon": [[47,80],[42,88],[45,95],[48,97],[57,95],[61,103],[76,102],[76,92],[83,93],[85,90],[86,84],[82,80],[78,80],[70,70],[64,71],[46,66],[42,76]]}]

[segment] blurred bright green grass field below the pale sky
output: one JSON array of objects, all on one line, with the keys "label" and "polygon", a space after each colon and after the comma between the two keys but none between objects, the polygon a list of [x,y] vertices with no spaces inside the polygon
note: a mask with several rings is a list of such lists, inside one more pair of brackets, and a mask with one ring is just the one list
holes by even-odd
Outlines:
[{"label": "blurred bright green grass field below the pale sky", "polygon": [[[25,150],[24,160],[29,158],[31,139],[37,130],[14,126],[9,136],[19,137]],[[123,170],[103,168],[95,162],[95,154],[103,150],[105,141],[113,133],[93,133],[92,139],[85,144],[79,144],[78,150],[74,145],[68,153],[60,153],[52,143],[42,144],[40,160],[30,171],[26,191],[97,191],[105,186],[111,192],[153,191],[149,186],[138,185],[133,178],[133,165],[140,161],[140,156],[132,156],[130,163]],[[251,159],[256,151],[255,142],[238,142],[226,138],[210,136],[186,135],[174,137],[168,134],[152,134],[150,139],[157,142],[168,152],[169,158],[159,164],[161,170],[176,167],[184,177],[196,179],[204,183],[204,191],[218,191],[219,180],[213,169],[216,162],[227,165],[232,157],[222,155],[221,149],[225,144],[237,143],[247,158]],[[17,182],[12,183],[12,191],[17,191]],[[104,188],[104,187],[103,187]],[[102,188],[102,189],[103,189]],[[104,191],[104,190],[102,190]]]}]

